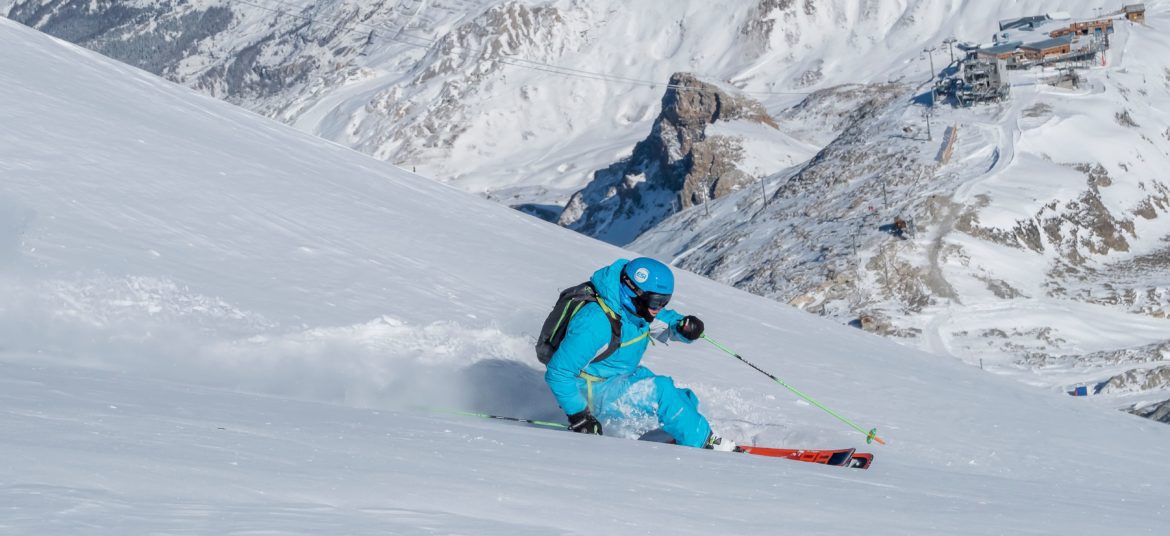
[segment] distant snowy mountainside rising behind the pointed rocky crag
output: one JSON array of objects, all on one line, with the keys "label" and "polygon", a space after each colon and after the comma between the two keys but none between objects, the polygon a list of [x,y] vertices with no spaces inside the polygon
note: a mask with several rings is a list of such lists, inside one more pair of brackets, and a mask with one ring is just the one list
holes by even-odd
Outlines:
[{"label": "distant snowy mountainside rising behind the pointed rocky crag", "polygon": [[[772,115],[929,78],[923,47],[1088,0],[4,0],[14,20],[509,204],[564,205],[694,73]],[[779,170],[772,170],[772,172]]]}]

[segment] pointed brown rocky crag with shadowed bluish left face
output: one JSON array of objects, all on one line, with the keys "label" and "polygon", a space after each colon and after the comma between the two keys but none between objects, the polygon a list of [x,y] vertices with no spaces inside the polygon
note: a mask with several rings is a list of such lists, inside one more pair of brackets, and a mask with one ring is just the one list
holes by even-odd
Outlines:
[{"label": "pointed brown rocky crag with shadowed bluish left face", "polygon": [[558,224],[624,245],[680,209],[751,181],[753,177],[737,166],[743,158],[738,140],[707,133],[709,125],[731,121],[777,128],[760,103],[691,74],[675,74],[649,137],[629,158],[594,172],[569,200]]}]

